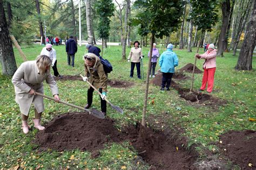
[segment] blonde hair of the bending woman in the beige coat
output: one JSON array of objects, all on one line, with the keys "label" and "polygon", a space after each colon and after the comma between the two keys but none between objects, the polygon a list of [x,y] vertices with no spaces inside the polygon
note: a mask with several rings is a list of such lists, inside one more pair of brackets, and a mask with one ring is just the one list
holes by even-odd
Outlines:
[{"label": "blonde hair of the bending woman in the beige coat", "polygon": [[45,70],[46,67],[51,66],[51,59],[45,55],[39,55],[36,58],[36,65],[38,67],[39,73],[45,75],[48,73],[48,70]]}]

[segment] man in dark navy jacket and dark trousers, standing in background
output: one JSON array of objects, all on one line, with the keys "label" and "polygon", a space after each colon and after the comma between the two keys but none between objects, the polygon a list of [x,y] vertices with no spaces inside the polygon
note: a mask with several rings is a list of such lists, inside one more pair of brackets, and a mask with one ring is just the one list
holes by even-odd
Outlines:
[{"label": "man in dark navy jacket and dark trousers, standing in background", "polygon": [[75,53],[77,52],[77,43],[73,39],[73,36],[70,36],[66,42],[66,53],[68,54],[68,65],[70,65],[70,57],[72,58],[71,65],[74,67],[75,62]]}]

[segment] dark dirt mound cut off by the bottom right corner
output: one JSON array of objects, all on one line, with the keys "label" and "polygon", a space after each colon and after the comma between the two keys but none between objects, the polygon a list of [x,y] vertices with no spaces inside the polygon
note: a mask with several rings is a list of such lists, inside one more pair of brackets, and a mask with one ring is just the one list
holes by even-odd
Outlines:
[{"label": "dark dirt mound cut off by the bottom right corner", "polygon": [[220,157],[228,158],[241,169],[256,169],[256,131],[230,131],[221,135],[220,141]]}]

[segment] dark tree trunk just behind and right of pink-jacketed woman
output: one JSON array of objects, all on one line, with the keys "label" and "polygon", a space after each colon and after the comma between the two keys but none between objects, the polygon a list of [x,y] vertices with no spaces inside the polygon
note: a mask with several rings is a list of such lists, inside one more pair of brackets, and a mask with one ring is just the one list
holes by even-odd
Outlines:
[{"label": "dark tree trunk just behind and right of pink-jacketed woman", "polygon": [[230,9],[231,9],[230,0],[224,1],[223,4],[221,5],[223,18],[222,18],[222,25],[221,25],[221,31],[220,31],[220,37],[219,37],[219,43],[218,43],[217,56],[223,57],[228,18],[230,17]]}]

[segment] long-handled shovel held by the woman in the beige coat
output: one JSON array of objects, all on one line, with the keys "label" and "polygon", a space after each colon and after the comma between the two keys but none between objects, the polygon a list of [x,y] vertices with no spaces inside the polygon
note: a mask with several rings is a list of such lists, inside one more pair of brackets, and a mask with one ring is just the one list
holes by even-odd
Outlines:
[{"label": "long-handled shovel held by the woman in the beige coat", "polygon": [[76,105],[73,105],[73,104],[70,104],[70,103],[66,103],[65,101],[56,100],[55,98],[52,98],[52,97],[49,97],[49,96],[45,96],[44,94],[41,94],[41,93],[38,93],[38,92],[35,92],[35,93],[38,96],[42,96],[42,97],[48,98],[50,100],[58,101],[58,103],[62,103],[62,104],[65,104],[65,105],[68,105],[68,106],[71,106],[71,107],[75,107],[75,108],[78,108],[80,110],[89,112],[89,114],[95,116],[96,118],[99,118],[99,119],[104,119],[105,118],[105,115],[102,112],[96,110],[95,108],[92,108],[91,110],[88,110],[88,109],[83,108],[83,107],[79,107],[79,106],[76,106]]}]

